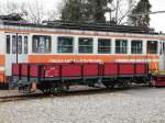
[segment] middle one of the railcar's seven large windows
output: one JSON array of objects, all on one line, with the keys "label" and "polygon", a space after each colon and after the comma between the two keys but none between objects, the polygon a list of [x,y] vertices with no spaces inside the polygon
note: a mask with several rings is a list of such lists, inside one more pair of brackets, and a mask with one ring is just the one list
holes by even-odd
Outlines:
[{"label": "middle one of the railcar's seven large windows", "polygon": [[98,40],[98,53],[110,54],[111,53],[111,40],[99,38]]}]

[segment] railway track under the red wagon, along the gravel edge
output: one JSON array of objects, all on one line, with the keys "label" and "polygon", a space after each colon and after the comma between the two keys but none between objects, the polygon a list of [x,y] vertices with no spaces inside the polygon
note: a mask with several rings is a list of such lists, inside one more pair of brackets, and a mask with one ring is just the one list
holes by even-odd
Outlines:
[{"label": "railway track under the red wagon, along the gravel edge", "polygon": [[[131,89],[142,89],[147,88],[146,86],[134,86]],[[86,96],[86,94],[98,94],[98,93],[107,93],[107,92],[117,92],[117,91],[125,91],[122,88],[116,89],[107,89],[107,88],[92,88],[92,89],[81,89],[81,90],[70,90],[67,92],[59,92],[59,93],[33,93],[33,94],[18,94],[18,96],[6,96],[0,97],[0,103],[4,102],[14,102],[14,101],[25,101],[25,100],[35,100],[35,99],[43,99],[43,98],[56,98],[56,97],[69,97],[69,96]]]}]

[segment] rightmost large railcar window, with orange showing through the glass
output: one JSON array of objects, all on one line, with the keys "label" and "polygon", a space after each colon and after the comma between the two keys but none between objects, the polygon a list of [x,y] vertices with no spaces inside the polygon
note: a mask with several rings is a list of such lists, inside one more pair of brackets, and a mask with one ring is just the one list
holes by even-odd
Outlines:
[{"label": "rightmost large railcar window, with orange showing through the glass", "polygon": [[147,54],[157,54],[157,41],[147,41]]}]

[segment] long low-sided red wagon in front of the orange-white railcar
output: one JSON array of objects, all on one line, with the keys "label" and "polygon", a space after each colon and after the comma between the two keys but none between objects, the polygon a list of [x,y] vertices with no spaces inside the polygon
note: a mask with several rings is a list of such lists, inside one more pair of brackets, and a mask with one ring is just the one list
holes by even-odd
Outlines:
[{"label": "long low-sided red wagon in front of the orange-white railcar", "polygon": [[146,63],[13,64],[12,76],[12,83],[23,91],[35,89],[43,92],[62,91],[68,90],[72,85],[94,86],[99,81],[107,88],[112,88],[114,85],[148,79],[148,65]]}]

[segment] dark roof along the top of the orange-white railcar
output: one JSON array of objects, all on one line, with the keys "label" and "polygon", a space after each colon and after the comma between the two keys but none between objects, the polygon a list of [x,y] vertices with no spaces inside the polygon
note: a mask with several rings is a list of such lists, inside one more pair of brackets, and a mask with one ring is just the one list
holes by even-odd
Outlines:
[{"label": "dark roof along the top of the orange-white railcar", "polygon": [[117,32],[117,33],[136,33],[136,34],[158,34],[153,29],[128,25],[111,25],[108,23],[73,23],[73,22],[46,22],[42,24],[34,24],[18,21],[1,21],[3,25],[18,25],[30,27],[47,27],[47,29],[63,29],[63,30],[78,30],[78,31],[100,31],[100,32]]}]

